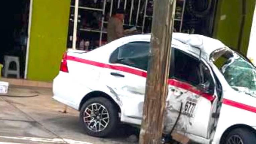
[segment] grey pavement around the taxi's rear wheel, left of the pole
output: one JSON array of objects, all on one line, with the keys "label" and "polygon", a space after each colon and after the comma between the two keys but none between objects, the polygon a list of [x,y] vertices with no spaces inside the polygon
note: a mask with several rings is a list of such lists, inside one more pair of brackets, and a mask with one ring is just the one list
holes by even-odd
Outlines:
[{"label": "grey pavement around the taxi's rear wheel, left of the pole", "polygon": [[[120,125],[109,138],[95,138],[84,133],[78,112],[52,99],[47,88],[14,87],[9,95],[35,95],[37,97],[0,96],[0,144],[126,144],[136,143],[130,135],[136,133],[128,125]],[[136,140],[135,140],[136,141]]]}]

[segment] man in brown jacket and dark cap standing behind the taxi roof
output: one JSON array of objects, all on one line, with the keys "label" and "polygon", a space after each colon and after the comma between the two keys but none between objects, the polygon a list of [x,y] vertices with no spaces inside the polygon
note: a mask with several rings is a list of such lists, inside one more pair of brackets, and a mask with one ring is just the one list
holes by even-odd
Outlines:
[{"label": "man in brown jacket and dark cap standing behind the taxi roof", "polygon": [[108,22],[108,42],[112,42],[130,33],[123,28],[124,10],[117,9]]}]

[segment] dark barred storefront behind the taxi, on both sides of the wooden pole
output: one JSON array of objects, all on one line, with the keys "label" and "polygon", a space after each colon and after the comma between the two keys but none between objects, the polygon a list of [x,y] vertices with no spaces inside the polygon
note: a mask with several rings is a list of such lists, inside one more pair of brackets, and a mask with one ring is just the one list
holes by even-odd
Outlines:
[{"label": "dark barred storefront behind the taxi, on both sides of the wooden pole", "polygon": [[[76,1],[78,3],[77,8],[75,7]],[[106,44],[108,20],[118,8],[124,10],[124,29],[136,28],[137,33],[150,33],[153,4],[153,0],[71,0],[67,47],[92,50]],[[205,3],[205,5],[208,7],[215,6],[210,3]],[[198,7],[204,15],[198,13]],[[191,34],[202,34],[201,31],[207,31],[201,29],[203,27],[209,28],[208,25],[205,25],[207,24],[205,21],[209,21],[208,17],[213,12],[206,8],[192,5],[189,0],[177,0],[174,31]],[[78,10],[77,21],[75,22],[77,29],[74,32],[74,11],[76,9]],[[192,23],[187,23],[190,21]],[[72,45],[73,34],[75,33],[76,43]]]}]

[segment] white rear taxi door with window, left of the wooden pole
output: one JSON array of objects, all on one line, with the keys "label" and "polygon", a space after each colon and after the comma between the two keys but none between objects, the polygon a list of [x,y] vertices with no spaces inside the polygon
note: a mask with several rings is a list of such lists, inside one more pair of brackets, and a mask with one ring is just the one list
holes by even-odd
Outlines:
[{"label": "white rear taxi door with window, left of the wooden pole", "polygon": [[[107,87],[120,102],[122,121],[140,124],[146,84],[149,41],[130,41],[110,56],[111,69],[103,76]],[[134,121],[134,119],[136,119]]]}]

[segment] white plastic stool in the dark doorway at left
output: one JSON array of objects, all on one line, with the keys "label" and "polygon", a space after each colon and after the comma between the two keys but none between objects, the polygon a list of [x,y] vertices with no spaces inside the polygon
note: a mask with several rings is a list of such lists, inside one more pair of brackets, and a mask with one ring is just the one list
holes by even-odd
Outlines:
[{"label": "white plastic stool in the dark doorway at left", "polygon": [[[16,63],[16,70],[9,70],[11,62]],[[19,57],[4,56],[4,77],[7,77],[9,74],[16,75],[16,78],[19,79]]]}]

